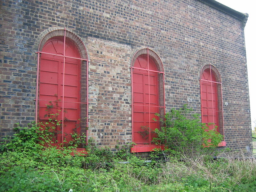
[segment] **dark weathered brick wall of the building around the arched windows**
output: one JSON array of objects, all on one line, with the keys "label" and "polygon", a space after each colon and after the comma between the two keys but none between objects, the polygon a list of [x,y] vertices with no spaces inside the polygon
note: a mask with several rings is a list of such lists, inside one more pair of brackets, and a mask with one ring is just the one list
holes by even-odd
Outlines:
[{"label": "dark weathered brick wall of the building around the arched windows", "polygon": [[[89,56],[89,136],[115,150],[132,141],[131,62],[150,48],[165,72],[165,106],[200,113],[200,72],[220,72],[227,147],[251,150],[244,43],[247,17],[206,0],[2,0],[0,2],[0,129],[35,120],[37,54],[54,29],[76,34]],[[238,16],[237,16],[238,15]],[[239,17],[241,19],[239,19]]]}]

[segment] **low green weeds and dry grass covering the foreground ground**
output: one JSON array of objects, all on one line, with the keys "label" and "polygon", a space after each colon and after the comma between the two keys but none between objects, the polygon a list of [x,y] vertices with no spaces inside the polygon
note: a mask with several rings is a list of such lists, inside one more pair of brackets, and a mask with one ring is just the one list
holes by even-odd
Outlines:
[{"label": "low green weeds and dry grass covering the foreground ground", "polygon": [[123,154],[127,164],[120,163],[124,156],[111,156],[103,150],[88,156],[71,156],[68,151],[58,154],[54,148],[30,152],[1,154],[0,191],[256,191],[256,160],[242,152],[217,160],[183,156],[180,161],[164,156],[151,162]]}]

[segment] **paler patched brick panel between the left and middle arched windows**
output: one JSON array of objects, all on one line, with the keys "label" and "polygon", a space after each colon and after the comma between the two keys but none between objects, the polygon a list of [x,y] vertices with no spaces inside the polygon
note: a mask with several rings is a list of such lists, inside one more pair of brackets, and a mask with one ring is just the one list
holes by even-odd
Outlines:
[{"label": "paler patched brick panel between the left and middle arched windows", "polygon": [[[131,64],[132,49],[96,38],[87,39],[89,67],[89,136],[99,145],[132,142]],[[94,79],[92,81],[92,79]],[[113,149],[114,150],[114,149]]]}]

